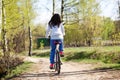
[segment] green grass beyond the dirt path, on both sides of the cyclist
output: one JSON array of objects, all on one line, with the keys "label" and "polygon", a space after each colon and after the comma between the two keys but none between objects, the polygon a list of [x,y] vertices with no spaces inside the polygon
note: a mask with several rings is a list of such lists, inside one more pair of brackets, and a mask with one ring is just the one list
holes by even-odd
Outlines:
[{"label": "green grass beyond the dirt path, on both sides of the cyclist", "polygon": [[[35,50],[36,57],[49,57],[50,50]],[[63,61],[98,64],[98,68],[120,69],[120,46],[65,48]]]}]

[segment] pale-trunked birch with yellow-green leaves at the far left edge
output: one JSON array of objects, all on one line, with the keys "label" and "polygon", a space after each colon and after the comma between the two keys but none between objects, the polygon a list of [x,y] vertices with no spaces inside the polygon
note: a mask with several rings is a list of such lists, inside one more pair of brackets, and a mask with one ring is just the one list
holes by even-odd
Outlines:
[{"label": "pale-trunked birch with yellow-green leaves at the far left edge", "polygon": [[10,42],[13,41],[13,37],[17,34],[16,28],[18,29],[20,23],[17,21],[17,19],[20,20],[20,16],[18,16],[19,10],[16,2],[17,0],[2,0],[1,42],[4,55],[2,56],[1,62],[5,62],[5,70],[10,68],[10,62],[12,61],[10,53],[14,52],[9,51],[9,49],[13,48],[13,44],[10,45]]}]

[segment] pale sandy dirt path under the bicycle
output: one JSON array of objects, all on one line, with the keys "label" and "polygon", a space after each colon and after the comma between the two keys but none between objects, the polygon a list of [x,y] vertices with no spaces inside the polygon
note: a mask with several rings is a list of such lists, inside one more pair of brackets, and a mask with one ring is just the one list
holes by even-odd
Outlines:
[{"label": "pale sandy dirt path under the bicycle", "polygon": [[31,70],[11,80],[120,80],[120,71],[94,70],[93,64],[63,62],[61,74],[49,69],[49,59],[26,58],[35,64]]}]

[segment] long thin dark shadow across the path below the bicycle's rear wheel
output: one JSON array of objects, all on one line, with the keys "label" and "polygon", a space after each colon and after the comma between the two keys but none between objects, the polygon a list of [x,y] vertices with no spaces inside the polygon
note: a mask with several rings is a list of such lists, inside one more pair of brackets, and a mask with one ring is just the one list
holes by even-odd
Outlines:
[{"label": "long thin dark shadow across the path below the bicycle's rear wheel", "polygon": [[57,75],[55,71],[49,71],[46,73],[25,73],[25,74],[21,74],[19,76],[14,76],[14,78],[53,77],[53,76],[63,76],[64,77],[64,76],[81,75],[81,74],[94,74],[94,73],[102,74],[102,72],[107,72],[107,71],[115,71],[115,70],[101,69],[101,70],[82,70],[82,71],[70,71],[70,72],[68,71],[68,72],[61,72],[59,75]]}]

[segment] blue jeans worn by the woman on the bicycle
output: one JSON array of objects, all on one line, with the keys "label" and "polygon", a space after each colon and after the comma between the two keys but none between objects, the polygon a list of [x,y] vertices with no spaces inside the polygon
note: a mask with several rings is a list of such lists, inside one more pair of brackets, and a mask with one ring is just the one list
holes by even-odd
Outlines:
[{"label": "blue jeans worn by the woman on the bicycle", "polygon": [[[60,42],[59,44],[59,51],[63,51],[63,40],[62,39],[56,39]],[[54,57],[55,57],[55,49],[56,45],[54,43],[54,39],[50,40],[50,46],[51,46],[51,52],[50,52],[50,63],[54,64]]]}]

